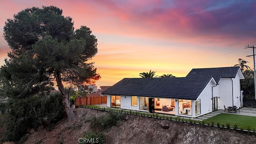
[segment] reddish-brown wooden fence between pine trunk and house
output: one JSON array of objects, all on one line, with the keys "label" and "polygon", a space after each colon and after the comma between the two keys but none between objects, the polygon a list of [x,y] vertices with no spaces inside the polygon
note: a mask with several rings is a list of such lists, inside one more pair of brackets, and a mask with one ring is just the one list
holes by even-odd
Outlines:
[{"label": "reddish-brown wooden fence between pine trunk and house", "polygon": [[77,97],[76,106],[106,104],[107,96]]}]

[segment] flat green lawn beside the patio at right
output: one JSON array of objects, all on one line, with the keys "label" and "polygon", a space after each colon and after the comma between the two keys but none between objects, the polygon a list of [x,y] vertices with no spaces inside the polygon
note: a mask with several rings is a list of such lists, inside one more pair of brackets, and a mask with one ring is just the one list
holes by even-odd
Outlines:
[{"label": "flat green lawn beside the patio at right", "polygon": [[242,116],[242,115],[237,115],[237,114],[218,114],[217,116],[214,116],[212,118],[208,118],[205,120],[205,123],[207,124],[208,122],[214,122],[214,125],[217,125],[217,123],[220,123],[220,126],[222,124],[225,125],[226,123],[230,122],[230,127],[233,128],[234,124],[240,128],[240,126],[244,127],[244,130],[247,130],[247,126],[252,128],[256,128],[256,117],[255,116]]}]

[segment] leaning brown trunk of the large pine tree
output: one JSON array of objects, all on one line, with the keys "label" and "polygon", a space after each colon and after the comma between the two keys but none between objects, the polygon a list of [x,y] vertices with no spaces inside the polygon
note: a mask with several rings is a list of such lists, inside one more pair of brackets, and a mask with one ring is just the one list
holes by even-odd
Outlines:
[{"label": "leaning brown trunk of the large pine tree", "polygon": [[[73,112],[73,108],[70,108],[69,95],[67,96],[67,94],[65,92],[65,89],[64,89],[64,86],[62,84],[62,80],[61,80],[61,76],[60,76],[60,70],[56,70],[54,75],[55,75],[55,78],[56,78],[58,89],[61,92],[62,103],[65,106],[66,114],[68,116],[68,122],[70,122],[71,120],[74,119],[75,114]],[[70,89],[69,89],[69,93],[70,93]]]}]

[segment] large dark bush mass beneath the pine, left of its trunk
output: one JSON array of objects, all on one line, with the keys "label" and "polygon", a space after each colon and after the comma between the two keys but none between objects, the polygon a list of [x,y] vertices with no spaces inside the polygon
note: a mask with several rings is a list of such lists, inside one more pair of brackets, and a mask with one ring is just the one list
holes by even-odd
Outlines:
[{"label": "large dark bush mass beneath the pine, left of its trunk", "polygon": [[32,96],[19,100],[9,100],[0,125],[3,128],[2,140],[24,141],[29,128],[37,128],[63,117],[64,106],[60,96]]}]

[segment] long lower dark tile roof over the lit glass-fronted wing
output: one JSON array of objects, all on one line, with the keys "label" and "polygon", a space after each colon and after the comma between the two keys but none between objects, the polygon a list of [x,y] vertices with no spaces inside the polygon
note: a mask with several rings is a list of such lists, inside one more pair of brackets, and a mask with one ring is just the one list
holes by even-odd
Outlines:
[{"label": "long lower dark tile roof over the lit glass-fronted wing", "polygon": [[211,78],[124,78],[102,94],[196,100]]}]

